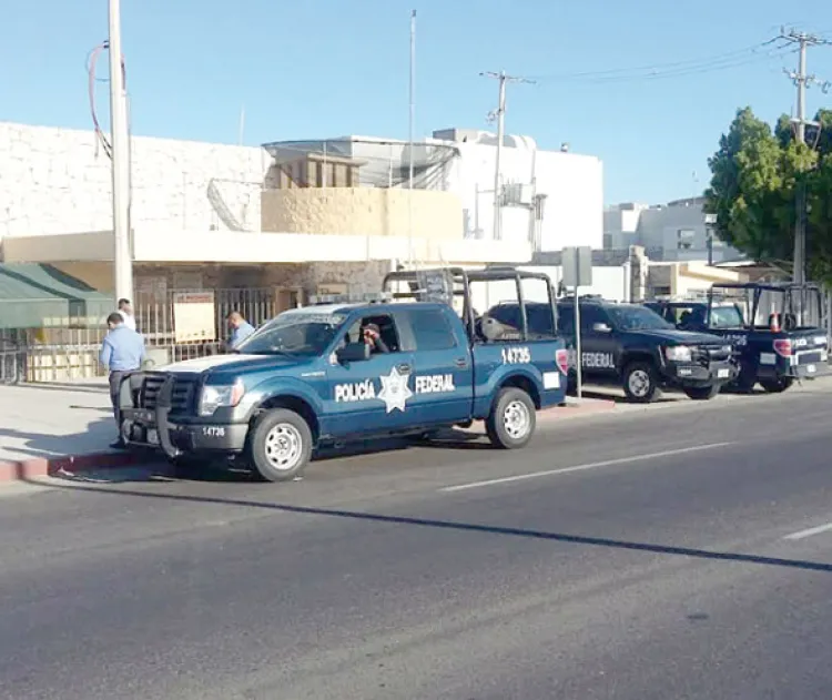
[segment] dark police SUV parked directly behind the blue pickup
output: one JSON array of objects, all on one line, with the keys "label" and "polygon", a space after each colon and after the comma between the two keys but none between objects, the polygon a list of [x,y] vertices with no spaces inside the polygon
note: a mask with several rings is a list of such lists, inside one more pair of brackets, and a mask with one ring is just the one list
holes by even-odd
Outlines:
[{"label": "dark police SUV parked directly behind the blue pickup", "polygon": [[[559,328],[575,366],[575,300],[558,302]],[[529,327],[546,316],[527,303]],[[499,304],[487,316],[517,322],[516,304]],[[581,374],[588,383],[620,383],[632,403],[652,402],[661,387],[680,388],[690,398],[713,398],[737,377],[732,347],[724,338],[679,331],[655,312],[637,304],[599,297],[580,300]]]}]

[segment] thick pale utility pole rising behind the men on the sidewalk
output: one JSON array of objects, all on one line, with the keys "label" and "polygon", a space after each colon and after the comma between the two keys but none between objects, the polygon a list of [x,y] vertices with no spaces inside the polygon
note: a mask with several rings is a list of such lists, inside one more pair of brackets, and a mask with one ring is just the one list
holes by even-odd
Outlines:
[{"label": "thick pale utility pole rising behind the men on the sidewalk", "polygon": [[121,52],[120,0],[110,1],[110,131],[113,180],[113,271],[115,298],[133,298],[130,246],[130,142]]}]

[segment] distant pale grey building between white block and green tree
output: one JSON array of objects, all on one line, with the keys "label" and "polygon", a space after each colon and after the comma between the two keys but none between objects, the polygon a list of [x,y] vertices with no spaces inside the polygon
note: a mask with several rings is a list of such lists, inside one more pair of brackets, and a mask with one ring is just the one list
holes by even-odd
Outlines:
[{"label": "distant pale grey building between white block and green tree", "polygon": [[641,245],[651,260],[663,262],[719,263],[741,257],[739,251],[711,236],[703,206],[704,197],[653,206],[632,202],[609,206],[603,212],[603,247]]}]

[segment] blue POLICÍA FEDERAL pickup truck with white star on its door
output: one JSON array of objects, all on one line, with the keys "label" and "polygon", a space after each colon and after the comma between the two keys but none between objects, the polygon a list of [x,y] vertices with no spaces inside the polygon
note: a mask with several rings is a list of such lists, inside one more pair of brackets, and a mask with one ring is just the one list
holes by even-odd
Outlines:
[{"label": "blue POLIC\u00cdA FEDERAL pickup truck with white star on its door", "polygon": [[498,328],[475,337],[468,328],[443,302],[286,311],[233,354],[126,377],[122,437],[174,463],[240,460],[270,481],[298,477],[327,444],[479,419],[496,447],[522,447],[536,409],[565,402],[565,344],[554,335],[503,341]]}]

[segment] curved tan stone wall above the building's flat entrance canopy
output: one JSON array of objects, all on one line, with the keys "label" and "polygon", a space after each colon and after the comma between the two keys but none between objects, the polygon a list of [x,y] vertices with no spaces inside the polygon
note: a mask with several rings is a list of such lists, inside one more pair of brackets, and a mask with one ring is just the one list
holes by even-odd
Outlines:
[{"label": "curved tan stone wall above the building's flat entrance canopy", "polygon": [[263,231],[400,236],[407,235],[410,216],[414,237],[454,240],[464,235],[461,202],[449,192],[379,187],[263,192]]}]

